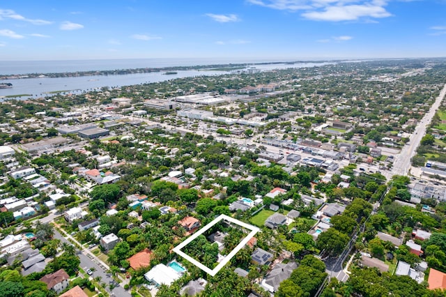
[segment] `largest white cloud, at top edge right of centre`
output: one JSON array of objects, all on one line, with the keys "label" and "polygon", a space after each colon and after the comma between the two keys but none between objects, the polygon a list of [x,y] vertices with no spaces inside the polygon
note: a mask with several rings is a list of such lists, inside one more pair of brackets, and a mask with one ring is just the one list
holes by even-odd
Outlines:
[{"label": "largest white cloud, at top edge right of centre", "polygon": [[301,12],[307,20],[341,22],[392,16],[387,0],[247,0],[254,5]]}]

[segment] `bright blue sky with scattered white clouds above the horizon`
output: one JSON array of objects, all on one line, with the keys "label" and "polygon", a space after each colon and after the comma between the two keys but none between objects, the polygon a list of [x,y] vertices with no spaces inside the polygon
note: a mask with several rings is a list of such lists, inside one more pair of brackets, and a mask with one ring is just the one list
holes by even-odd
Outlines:
[{"label": "bright blue sky with scattered white clouds above the horizon", "polygon": [[2,2],[0,61],[446,56],[446,0]]}]

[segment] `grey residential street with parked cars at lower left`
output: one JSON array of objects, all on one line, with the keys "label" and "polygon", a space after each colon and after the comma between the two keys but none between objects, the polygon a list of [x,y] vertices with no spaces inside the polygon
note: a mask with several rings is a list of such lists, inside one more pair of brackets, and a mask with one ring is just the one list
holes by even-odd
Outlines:
[{"label": "grey residential street with parked cars at lower left", "polygon": [[[59,231],[54,230],[54,238],[60,239],[63,243],[70,243],[66,238],[64,238]],[[71,243],[70,243],[71,244]],[[110,292],[109,284],[115,283],[115,281],[112,278],[112,275],[104,271],[98,264],[96,264],[92,259],[87,257],[85,254],[77,250],[77,256],[81,260],[81,264],[79,266],[86,270],[88,268],[95,268],[95,271],[93,272],[92,277],[101,277],[100,282],[104,282],[107,284],[105,289],[111,293],[113,296],[119,296],[119,297],[130,297],[131,295],[128,293],[128,291],[125,291],[123,287],[120,287],[119,284],[116,284],[118,287],[114,288],[112,292]]]}]

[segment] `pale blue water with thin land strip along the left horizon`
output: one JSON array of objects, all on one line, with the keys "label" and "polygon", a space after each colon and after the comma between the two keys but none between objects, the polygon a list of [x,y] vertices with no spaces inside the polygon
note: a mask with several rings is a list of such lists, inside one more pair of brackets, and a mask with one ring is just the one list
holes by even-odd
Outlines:
[{"label": "pale blue water with thin land strip along the left horizon", "polygon": [[[0,76],[10,74],[26,75],[28,73],[72,73],[89,70],[117,70],[132,68],[162,68],[175,66],[212,65],[217,63],[263,63],[263,61],[224,61],[217,59],[123,59],[123,60],[83,60],[83,61],[3,61],[0,63]],[[271,62],[268,60],[268,62]],[[274,62],[274,61],[272,61]],[[256,65],[260,70],[273,70],[284,68],[303,68],[323,66],[321,63],[275,63]],[[176,75],[164,75],[158,73],[133,73],[128,75],[93,75],[82,77],[36,77],[23,79],[0,79],[0,84],[9,82],[12,88],[0,89],[0,100],[4,96],[28,96],[17,97],[19,99],[42,98],[50,96],[51,92],[82,93],[93,91],[103,86],[120,87],[150,82],[164,82],[180,77],[197,77],[202,75],[221,75],[224,71],[203,70],[177,70]]]}]

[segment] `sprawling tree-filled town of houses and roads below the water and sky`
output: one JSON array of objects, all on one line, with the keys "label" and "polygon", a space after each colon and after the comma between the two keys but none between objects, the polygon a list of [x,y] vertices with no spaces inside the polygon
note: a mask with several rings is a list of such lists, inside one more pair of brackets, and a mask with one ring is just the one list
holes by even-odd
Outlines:
[{"label": "sprawling tree-filled town of houses and roads below the water and sky", "polygon": [[445,296],[445,65],[1,101],[0,296]]}]

